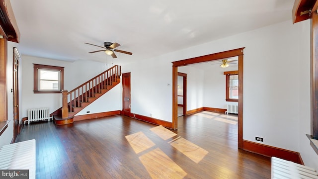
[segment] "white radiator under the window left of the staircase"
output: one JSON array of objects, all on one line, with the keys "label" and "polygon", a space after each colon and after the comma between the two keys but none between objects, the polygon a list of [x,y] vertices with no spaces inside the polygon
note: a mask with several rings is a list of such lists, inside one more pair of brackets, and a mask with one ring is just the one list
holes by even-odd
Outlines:
[{"label": "white radiator under the window left of the staircase", "polygon": [[[50,122],[50,113],[49,108],[34,108],[34,109],[28,109],[28,124],[33,121],[41,121],[41,120],[48,120]],[[25,124],[25,121],[24,121]]]}]

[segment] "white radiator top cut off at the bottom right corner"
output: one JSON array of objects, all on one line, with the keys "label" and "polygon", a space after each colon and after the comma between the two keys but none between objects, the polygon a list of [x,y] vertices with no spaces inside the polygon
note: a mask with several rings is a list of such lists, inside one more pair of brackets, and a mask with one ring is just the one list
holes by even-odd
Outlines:
[{"label": "white radiator top cut off at the bottom right corner", "polygon": [[318,179],[313,168],[272,157],[271,179]]}]

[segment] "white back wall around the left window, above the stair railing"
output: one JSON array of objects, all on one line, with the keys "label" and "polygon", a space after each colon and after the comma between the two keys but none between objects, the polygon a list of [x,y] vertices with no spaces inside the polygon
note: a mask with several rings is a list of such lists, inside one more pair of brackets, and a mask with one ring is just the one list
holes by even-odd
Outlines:
[{"label": "white back wall around the left window, above the stair railing", "polygon": [[64,89],[72,90],[106,70],[104,63],[92,61],[65,62],[22,55],[22,114],[27,117],[27,109],[49,107],[50,112],[62,107],[62,93],[33,93],[33,64],[64,67]]}]

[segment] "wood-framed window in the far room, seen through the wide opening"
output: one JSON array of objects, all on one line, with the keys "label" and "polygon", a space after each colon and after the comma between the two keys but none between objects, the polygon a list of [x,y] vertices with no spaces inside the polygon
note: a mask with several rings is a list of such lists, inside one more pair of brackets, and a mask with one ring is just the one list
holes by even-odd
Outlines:
[{"label": "wood-framed window in the far room, seen through the wide opening", "polygon": [[224,72],[226,75],[226,101],[239,101],[239,71]]}]

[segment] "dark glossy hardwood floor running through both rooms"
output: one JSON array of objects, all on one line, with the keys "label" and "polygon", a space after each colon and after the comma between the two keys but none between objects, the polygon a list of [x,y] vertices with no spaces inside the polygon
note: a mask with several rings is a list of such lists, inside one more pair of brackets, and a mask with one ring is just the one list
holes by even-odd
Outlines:
[{"label": "dark glossy hardwood floor running through both rooms", "polygon": [[[37,179],[270,179],[270,158],[238,149],[238,125],[226,122],[235,122],[233,117],[200,114],[179,117],[178,130],[171,130],[177,135],[166,140],[150,130],[156,125],[116,115],[64,126],[32,123],[16,142],[36,139]],[[146,148],[135,152],[127,136],[139,132],[144,138],[137,145]],[[203,158],[194,161],[189,151],[173,147],[180,138],[189,143],[176,144],[198,146]],[[174,175],[176,167],[183,172]]]}]

